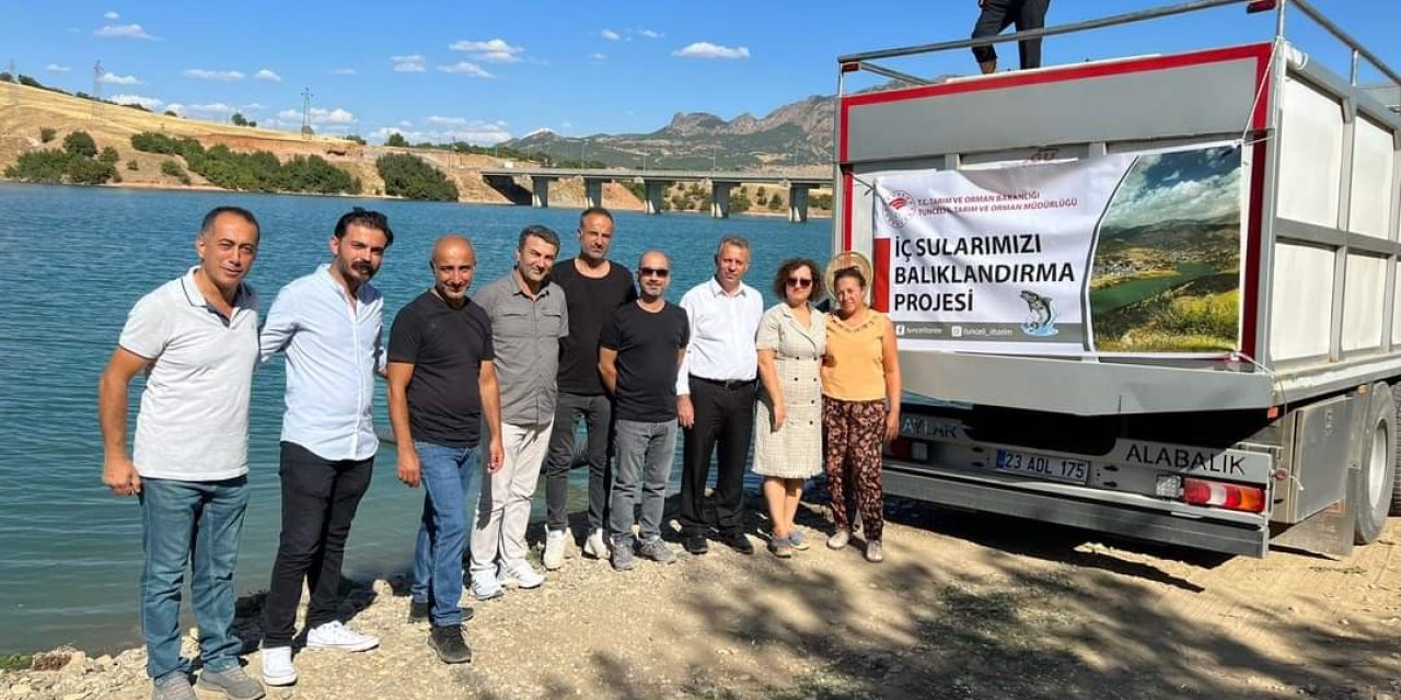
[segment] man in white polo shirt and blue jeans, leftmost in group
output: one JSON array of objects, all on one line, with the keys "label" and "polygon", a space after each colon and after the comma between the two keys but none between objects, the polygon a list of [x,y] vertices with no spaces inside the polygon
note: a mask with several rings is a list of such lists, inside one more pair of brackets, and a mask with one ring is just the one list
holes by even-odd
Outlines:
[{"label": "man in white polo shirt and blue jeans, leftmost in group", "polygon": [[[200,687],[235,700],[263,696],[238,664],[234,567],[248,504],[248,398],[258,363],[258,297],[244,277],[258,256],[258,220],[238,207],[205,216],[199,265],[132,308],[98,386],[102,483],[142,503],[140,615],[156,700],[195,700],[179,637],[191,580]],[[146,371],[136,441],[126,452],[127,386]],[[199,556],[192,556],[193,553]]]}]

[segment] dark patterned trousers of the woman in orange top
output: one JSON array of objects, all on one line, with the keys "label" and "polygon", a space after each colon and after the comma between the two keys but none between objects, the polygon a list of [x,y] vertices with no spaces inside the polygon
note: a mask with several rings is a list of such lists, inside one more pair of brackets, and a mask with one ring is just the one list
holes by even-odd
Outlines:
[{"label": "dark patterned trousers of the woman in orange top", "polygon": [[827,489],[832,493],[836,528],[850,528],[848,489],[855,487],[866,540],[880,542],[885,529],[885,494],[880,484],[885,402],[824,396],[822,431],[827,438]]}]

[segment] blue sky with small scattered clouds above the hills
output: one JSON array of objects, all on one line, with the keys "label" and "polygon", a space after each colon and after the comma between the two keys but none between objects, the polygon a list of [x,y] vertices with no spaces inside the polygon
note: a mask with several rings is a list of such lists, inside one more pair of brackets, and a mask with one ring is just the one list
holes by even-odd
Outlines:
[{"label": "blue sky with small scattered clouds above the hills", "polygon": [[[1401,0],[1311,0],[1401,73]],[[1048,24],[1178,0],[1055,0]],[[154,111],[317,133],[489,146],[549,129],[646,133],[677,112],[723,119],[836,91],[836,57],[968,36],[976,0],[835,3],[240,3],[0,0],[0,67]],[[1268,41],[1275,15],[1229,6],[1045,41],[1062,64]],[[1292,11],[1286,36],[1346,76],[1348,53]],[[1016,46],[999,48],[1003,67]],[[967,50],[878,62],[971,73]],[[1363,70],[1363,83],[1381,76]],[[850,85],[877,78],[857,76]]]}]

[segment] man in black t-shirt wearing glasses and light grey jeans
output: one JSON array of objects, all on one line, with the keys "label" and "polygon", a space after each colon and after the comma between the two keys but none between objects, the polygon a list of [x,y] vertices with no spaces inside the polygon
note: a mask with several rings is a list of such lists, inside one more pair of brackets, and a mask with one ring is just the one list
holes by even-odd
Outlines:
[{"label": "man in black t-shirt wearing glasses and light grey jeans", "polygon": [[[677,370],[691,342],[686,312],[663,294],[671,263],[660,251],[642,253],[637,283],[642,295],[619,307],[598,337],[598,374],[616,400],[618,473],[614,475],[608,535],[612,566],[632,568],[633,552],[668,563],[661,542],[661,511],[677,451]],[[642,487],[639,538],[632,535],[633,503]]]}]

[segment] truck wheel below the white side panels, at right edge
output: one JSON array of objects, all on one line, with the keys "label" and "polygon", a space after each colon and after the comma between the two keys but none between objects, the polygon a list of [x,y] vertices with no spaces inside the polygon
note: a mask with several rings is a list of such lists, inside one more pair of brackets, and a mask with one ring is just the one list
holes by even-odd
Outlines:
[{"label": "truck wheel below the white side panels, at right edge", "polygon": [[1370,545],[1387,525],[1395,500],[1397,400],[1390,386],[1377,382],[1367,392],[1367,423],[1362,433],[1358,470],[1353,542]]}]

